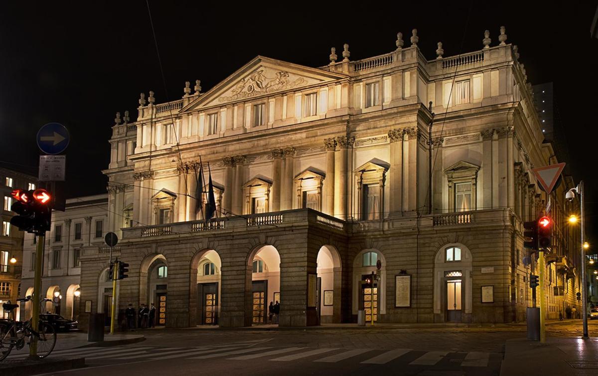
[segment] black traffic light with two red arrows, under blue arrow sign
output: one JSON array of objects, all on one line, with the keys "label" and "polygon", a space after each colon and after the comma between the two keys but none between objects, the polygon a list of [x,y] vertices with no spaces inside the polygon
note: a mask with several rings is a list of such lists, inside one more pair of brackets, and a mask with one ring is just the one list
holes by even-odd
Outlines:
[{"label": "black traffic light with two red arrows, under blue arrow sign", "polygon": [[51,195],[45,189],[24,191],[14,189],[11,195],[16,199],[11,210],[17,213],[10,219],[10,223],[19,230],[28,233],[42,234],[50,231],[52,217]]}]

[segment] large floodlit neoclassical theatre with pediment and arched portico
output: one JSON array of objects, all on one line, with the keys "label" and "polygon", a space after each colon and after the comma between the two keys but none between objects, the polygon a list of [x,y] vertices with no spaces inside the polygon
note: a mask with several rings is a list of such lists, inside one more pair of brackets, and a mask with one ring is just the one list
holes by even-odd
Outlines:
[{"label": "large floodlit neoclassical theatre with pediment and arched portico", "polygon": [[[266,323],[276,301],[284,326],[359,310],[523,320],[522,222],[547,204],[531,169],[555,159],[517,46],[504,28],[498,39],[451,57],[439,43],[428,60],[413,30],[368,59],[350,60],[349,45],[319,68],[258,56],[205,93],[198,80],[172,102],[141,94],[136,121],[117,114],[104,170],[108,229],[130,264],[118,307],[153,302],[172,327]],[[553,213],[572,210],[570,185]],[[547,291],[566,285],[558,310],[579,289],[574,232],[560,231],[550,264]],[[82,313],[84,300],[106,311],[107,268],[101,247],[84,247]]]}]

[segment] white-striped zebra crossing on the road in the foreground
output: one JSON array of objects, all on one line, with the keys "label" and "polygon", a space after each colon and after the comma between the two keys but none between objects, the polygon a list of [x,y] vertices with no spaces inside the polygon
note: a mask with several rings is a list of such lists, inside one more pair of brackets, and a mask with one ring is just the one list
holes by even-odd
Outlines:
[{"label": "white-striped zebra crossing on the road in the foreground", "polygon": [[[17,359],[25,354],[11,354],[8,358]],[[412,349],[342,349],[335,347],[280,347],[267,341],[244,341],[203,347],[158,347],[158,346],[117,346],[85,347],[78,349],[56,350],[50,357],[79,356],[86,359],[88,365],[106,360],[115,362],[149,362],[166,359],[202,359],[242,361],[268,360],[273,362],[292,362],[303,360],[315,363],[353,362],[363,365],[384,365],[398,362],[411,366],[435,366],[443,363],[462,368],[488,367],[492,359],[502,358],[499,353],[480,351],[421,351]]]}]

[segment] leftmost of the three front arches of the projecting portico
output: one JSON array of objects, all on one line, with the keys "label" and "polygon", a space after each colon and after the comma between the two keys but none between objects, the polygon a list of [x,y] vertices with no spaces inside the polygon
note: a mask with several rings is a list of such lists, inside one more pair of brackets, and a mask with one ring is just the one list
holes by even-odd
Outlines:
[{"label": "leftmost of the three front arches of the projecting portico", "polygon": [[[164,255],[149,255],[141,262],[139,278],[139,303],[149,310],[155,307],[155,316],[147,325],[166,325],[168,311],[168,264]],[[139,324],[139,323],[138,323]]]}]

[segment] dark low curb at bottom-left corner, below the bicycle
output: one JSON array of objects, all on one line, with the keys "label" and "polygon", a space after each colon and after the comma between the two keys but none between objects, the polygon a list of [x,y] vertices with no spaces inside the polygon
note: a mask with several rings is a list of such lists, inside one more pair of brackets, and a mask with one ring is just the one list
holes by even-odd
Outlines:
[{"label": "dark low curb at bottom-left corner, below the bicycle", "polygon": [[84,367],[85,359],[83,357],[72,359],[10,360],[0,364],[0,374],[7,372],[6,374],[10,374],[11,376],[30,376]]}]

